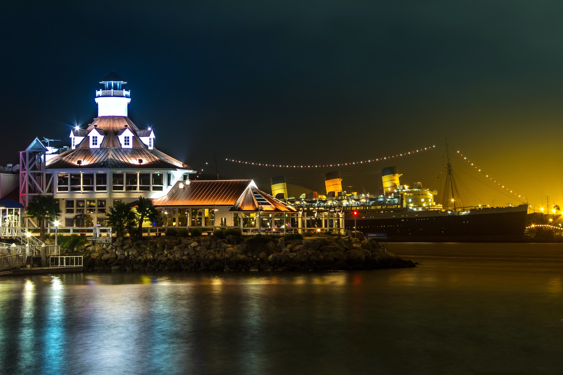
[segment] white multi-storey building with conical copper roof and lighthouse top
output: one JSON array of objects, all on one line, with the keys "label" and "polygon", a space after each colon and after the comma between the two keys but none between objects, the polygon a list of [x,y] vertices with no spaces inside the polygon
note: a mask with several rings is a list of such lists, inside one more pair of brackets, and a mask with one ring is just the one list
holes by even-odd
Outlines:
[{"label": "white multi-storey building with conical copper roof and lighthouse top", "polygon": [[[178,180],[189,183],[189,174],[195,172],[155,148],[153,129],[139,129],[127,117],[131,92],[122,88],[127,82],[112,72],[100,83],[104,88],[96,91],[98,117],[86,129],[73,129],[70,149],[48,159],[44,167],[51,183],[44,178],[50,186],[43,190],[59,200],[65,227],[72,227],[74,215],[82,213],[101,224],[117,202],[166,196]],[[20,186],[24,205],[29,201],[26,191]]]}]

